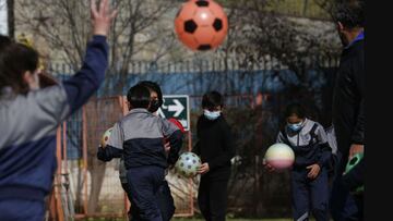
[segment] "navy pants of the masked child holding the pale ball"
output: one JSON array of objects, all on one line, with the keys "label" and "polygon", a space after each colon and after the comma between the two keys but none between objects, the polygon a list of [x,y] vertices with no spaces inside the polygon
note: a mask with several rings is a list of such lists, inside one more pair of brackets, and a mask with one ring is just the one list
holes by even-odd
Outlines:
[{"label": "navy pants of the masked child holding the pale ball", "polygon": [[329,180],[327,170],[310,180],[309,170],[299,169],[291,172],[294,220],[309,220],[311,211],[317,221],[329,221]]}]

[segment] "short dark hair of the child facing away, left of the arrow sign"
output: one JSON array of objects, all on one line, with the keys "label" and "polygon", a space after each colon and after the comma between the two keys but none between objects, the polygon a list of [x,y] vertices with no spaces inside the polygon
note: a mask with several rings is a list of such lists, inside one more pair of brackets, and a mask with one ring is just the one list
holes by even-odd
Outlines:
[{"label": "short dark hair of the child facing away, left of the arrow sign", "polygon": [[146,86],[138,84],[129,89],[127,100],[132,108],[147,109],[151,102],[150,90]]}]

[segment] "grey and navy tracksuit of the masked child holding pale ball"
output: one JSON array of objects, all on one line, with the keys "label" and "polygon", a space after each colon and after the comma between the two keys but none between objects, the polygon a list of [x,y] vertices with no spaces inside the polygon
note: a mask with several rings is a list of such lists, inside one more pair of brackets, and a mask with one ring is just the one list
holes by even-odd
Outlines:
[{"label": "grey and navy tracksuit of the masked child holding pale ball", "polygon": [[[295,152],[291,171],[294,220],[309,220],[311,211],[317,221],[329,221],[327,171],[332,150],[322,125],[306,119],[299,132],[288,128],[279,132],[277,143],[289,145]],[[321,170],[314,180],[307,176],[308,165],[319,164]]]}]

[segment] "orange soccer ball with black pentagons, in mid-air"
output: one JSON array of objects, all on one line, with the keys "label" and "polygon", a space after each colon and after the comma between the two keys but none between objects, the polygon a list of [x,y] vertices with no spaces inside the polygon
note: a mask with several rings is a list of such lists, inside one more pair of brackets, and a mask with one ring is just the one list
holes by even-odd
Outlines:
[{"label": "orange soccer ball with black pentagons, in mid-air", "polygon": [[182,44],[192,50],[217,48],[228,32],[228,19],[213,0],[189,0],[175,19],[175,30]]}]

